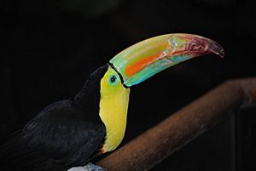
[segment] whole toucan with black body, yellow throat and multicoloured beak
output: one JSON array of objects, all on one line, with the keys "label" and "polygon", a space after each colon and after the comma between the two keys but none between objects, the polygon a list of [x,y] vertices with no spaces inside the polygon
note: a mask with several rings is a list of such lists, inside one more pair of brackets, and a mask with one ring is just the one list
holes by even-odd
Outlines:
[{"label": "whole toucan with black body, yellow throat and multicoloured beak", "polygon": [[0,147],[0,170],[102,170],[85,166],[123,140],[130,88],[203,54],[223,57],[224,48],[206,37],[183,33],[151,37],[126,48],[91,73],[72,100],[46,106],[12,134]]}]

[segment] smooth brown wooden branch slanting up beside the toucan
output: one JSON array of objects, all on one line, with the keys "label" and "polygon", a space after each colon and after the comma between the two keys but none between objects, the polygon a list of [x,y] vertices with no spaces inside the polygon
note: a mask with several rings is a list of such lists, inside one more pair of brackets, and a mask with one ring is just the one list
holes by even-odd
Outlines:
[{"label": "smooth brown wooden branch slanting up beside the toucan", "polygon": [[223,117],[255,103],[256,78],[223,83],[97,164],[108,171],[148,170]]}]

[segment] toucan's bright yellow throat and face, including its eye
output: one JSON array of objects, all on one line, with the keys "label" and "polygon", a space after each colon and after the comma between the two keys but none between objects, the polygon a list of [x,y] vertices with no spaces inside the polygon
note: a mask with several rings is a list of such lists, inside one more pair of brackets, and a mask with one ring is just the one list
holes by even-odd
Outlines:
[{"label": "toucan's bright yellow throat and face, including its eye", "polygon": [[123,140],[130,88],[124,88],[119,75],[108,66],[101,80],[100,117],[106,127],[103,151],[113,151]]}]

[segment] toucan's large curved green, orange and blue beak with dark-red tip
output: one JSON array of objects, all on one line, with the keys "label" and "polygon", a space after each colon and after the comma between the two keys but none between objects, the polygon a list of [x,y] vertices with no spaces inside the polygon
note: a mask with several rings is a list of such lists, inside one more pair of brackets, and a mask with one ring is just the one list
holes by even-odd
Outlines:
[{"label": "toucan's large curved green, orange and blue beak with dark-red tip", "polygon": [[224,48],[206,37],[166,34],[126,48],[109,63],[121,75],[124,86],[131,87],[170,66],[203,54],[224,57]]}]

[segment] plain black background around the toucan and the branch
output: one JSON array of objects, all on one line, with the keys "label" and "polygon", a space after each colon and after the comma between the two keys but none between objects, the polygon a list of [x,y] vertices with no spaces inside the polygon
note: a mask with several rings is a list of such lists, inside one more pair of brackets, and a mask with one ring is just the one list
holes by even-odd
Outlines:
[{"label": "plain black background around the toucan and the branch", "polygon": [[[1,142],[148,37],[198,34],[222,44],[226,57],[190,60],[132,88],[123,144],[219,83],[255,76],[253,0],[2,0],[0,10]],[[226,118],[152,170],[255,170],[255,115]]]}]

